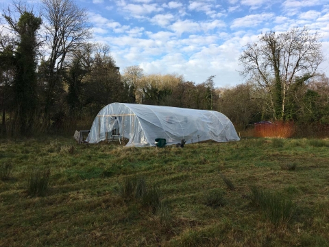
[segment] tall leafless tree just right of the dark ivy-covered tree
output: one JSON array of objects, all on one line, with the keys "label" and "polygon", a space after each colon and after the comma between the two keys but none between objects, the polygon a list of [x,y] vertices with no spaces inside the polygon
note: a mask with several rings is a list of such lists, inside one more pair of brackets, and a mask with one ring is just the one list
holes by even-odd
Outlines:
[{"label": "tall leafless tree just right of the dark ivy-covered tree", "polygon": [[42,0],[45,16],[47,45],[50,48],[47,60],[47,88],[45,117],[56,100],[56,88],[60,88],[65,58],[77,47],[91,38],[86,10],[73,0]]}]

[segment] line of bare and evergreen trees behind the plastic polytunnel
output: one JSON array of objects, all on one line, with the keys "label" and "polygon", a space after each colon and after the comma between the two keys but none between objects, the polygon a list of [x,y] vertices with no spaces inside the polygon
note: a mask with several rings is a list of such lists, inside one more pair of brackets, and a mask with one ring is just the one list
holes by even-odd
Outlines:
[{"label": "line of bare and evergreen trees behind the plastic polytunnel", "polygon": [[108,45],[91,42],[86,10],[42,0],[42,15],[16,2],[0,32],[1,133],[31,135],[90,126],[112,102],[218,110],[245,128],[263,119],[329,124],[329,79],[320,36],[307,28],[261,34],[239,61],[247,82],[217,88],[178,74],[121,74]]}]

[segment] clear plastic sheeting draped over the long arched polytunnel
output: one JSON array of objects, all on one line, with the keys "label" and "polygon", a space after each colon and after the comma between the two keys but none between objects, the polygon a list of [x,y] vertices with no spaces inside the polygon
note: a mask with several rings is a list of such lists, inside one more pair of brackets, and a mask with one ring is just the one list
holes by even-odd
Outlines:
[{"label": "clear plastic sheeting draped over the long arched polytunnel", "polygon": [[228,117],[214,110],[194,110],[169,106],[112,103],[95,117],[89,143],[129,139],[127,146],[155,146],[156,138],[167,145],[185,139],[186,144],[214,140],[239,141]]}]

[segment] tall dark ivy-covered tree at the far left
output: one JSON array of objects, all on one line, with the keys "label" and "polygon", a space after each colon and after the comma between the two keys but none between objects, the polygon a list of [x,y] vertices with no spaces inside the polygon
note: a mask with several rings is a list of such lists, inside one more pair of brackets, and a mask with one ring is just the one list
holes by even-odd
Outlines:
[{"label": "tall dark ivy-covered tree at the far left", "polygon": [[[15,21],[10,14],[3,14],[10,30],[17,36],[16,49],[13,49],[15,65],[14,80],[12,84],[14,92],[15,124],[21,134],[28,134],[31,130],[36,108],[37,95],[37,32],[42,20],[34,16],[32,11],[27,11],[21,5],[16,5],[21,14],[19,21]],[[14,47],[13,47],[14,48]]]}]

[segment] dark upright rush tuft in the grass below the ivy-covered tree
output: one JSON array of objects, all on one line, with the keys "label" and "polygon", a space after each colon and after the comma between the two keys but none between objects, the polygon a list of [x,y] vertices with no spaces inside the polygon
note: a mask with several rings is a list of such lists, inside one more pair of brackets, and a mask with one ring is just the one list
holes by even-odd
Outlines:
[{"label": "dark upright rush tuft in the grass below the ivy-covered tree", "polygon": [[29,173],[27,193],[29,196],[46,196],[49,185],[50,169],[36,169]]}]

